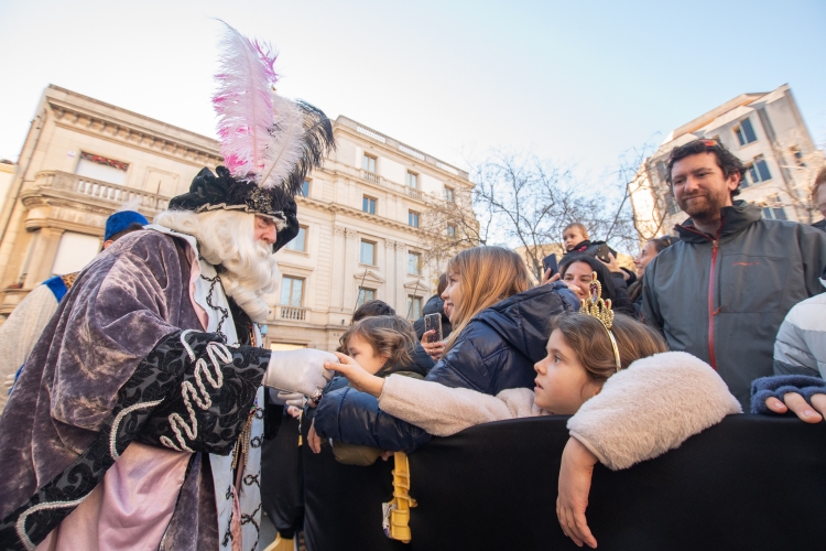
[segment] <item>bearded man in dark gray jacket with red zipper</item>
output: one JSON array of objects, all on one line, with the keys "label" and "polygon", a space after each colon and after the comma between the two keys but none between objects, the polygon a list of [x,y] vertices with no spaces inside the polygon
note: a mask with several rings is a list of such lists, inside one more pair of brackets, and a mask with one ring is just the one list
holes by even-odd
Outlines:
[{"label": "bearded man in dark gray jacket with red zipper", "polygon": [[826,233],[733,201],[745,171],[716,140],[674,148],[666,177],[691,218],[645,268],[642,315],[672,350],[717,369],[747,409],[751,381],[772,374],[786,313],[824,290]]}]

